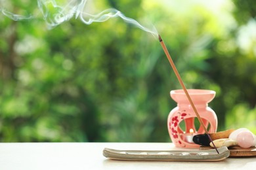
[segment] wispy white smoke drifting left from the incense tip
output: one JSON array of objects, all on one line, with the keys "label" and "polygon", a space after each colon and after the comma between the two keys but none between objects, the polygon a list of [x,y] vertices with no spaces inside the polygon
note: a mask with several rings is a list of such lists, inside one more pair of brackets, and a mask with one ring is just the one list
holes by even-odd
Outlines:
[{"label": "wispy white smoke drifting left from the incense tip", "polygon": [[[116,9],[106,9],[98,14],[90,14],[88,10],[85,10],[87,7],[87,0],[67,0],[58,2],[56,2],[55,0],[37,0],[37,7],[43,15],[43,19],[45,20],[49,28],[53,28],[57,25],[62,24],[63,22],[67,22],[71,18],[79,19],[84,24],[89,25],[93,22],[105,22],[110,18],[119,17],[129,24],[132,24],[135,27],[139,27],[143,31],[152,33],[152,35],[158,35],[158,32],[156,31],[156,28],[154,26],[152,26],[152,29],[144,27],[133,18],[126,17],[124,14]],[[9,12],[3,7],[0,7],[0,12],[15,21],[37,18],[32,14],[28,14],[26,16],[20,14],[13,14],[12,12]]]}]

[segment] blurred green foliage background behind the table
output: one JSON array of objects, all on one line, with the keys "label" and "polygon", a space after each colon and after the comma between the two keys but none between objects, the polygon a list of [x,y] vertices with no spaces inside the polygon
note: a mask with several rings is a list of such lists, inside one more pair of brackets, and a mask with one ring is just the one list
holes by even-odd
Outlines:
[{"label": "blurred green foliage background behind the table", "polygon": [[[154,36],[121,18],[47,29],[37,1],[0,4],[36,16],[0,17],[1,142],[171,141],[169,92],[181,86]],[[217,92],[209,106],[218,131],[256,133],[253,0],[98,0],[87,8],[154,25],[186,87]]]}]

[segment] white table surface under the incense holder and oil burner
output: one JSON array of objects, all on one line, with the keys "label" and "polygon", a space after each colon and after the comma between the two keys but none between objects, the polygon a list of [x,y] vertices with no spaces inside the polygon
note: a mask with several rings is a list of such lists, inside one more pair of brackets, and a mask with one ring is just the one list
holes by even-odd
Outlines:
[{"label": "white table surface under the incense holder and oil burner", "polygon": [[256,158],[223,161],[119,161],[102,155],[118,150],[185,150],[173,143],[0,143],[0,169],[255,169]]}]

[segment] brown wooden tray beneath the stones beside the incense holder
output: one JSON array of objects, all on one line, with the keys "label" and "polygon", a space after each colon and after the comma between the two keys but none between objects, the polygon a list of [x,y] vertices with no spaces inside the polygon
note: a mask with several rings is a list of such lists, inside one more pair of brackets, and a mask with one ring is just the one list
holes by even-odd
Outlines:
[{"label": "brown wooden tray beneath the stones beside the incense holder", "polygon": [[[212,149],[211,146],[200,146],[200,150]],[[230,150],[229,157],[249,157],[256,156],[256,147],[251,148],[241,148],[240,146],[231,146],[228,147]]]}]

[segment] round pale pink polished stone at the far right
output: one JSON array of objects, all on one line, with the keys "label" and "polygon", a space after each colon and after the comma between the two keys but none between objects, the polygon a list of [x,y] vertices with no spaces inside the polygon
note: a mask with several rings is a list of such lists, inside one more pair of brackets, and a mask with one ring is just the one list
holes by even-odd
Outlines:
[{"label": "round pale pink polished stone at the far right", "polygon": [[253,146],[254,136],[251,131],[241,131],[236,137],[238,145],[242,148],[249,148]]}]

